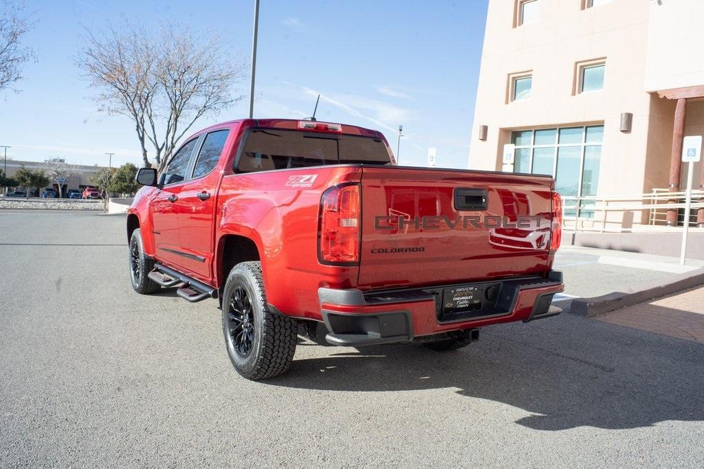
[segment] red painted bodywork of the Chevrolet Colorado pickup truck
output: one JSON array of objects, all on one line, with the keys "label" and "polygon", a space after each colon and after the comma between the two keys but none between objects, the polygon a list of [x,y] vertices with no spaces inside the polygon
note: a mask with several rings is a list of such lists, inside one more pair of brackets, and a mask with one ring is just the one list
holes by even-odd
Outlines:
[{"label": "red painted bodywork of the Chevrolet Colorado pickup truck", "polygon": [[[289,316],[317,321],[322,320],[318,297],[321,287],[368,291],[546,276],[550,271],[551,178],[379,165],[234,172],[238,153],[253,127],[296,129],[297,124],[296,120],[238,120],[194,134],[201,136],[230,129],[212,172],[163,188],[142,188],[137,193],[128,213],[139,220],[146,254],[220,288],[221,279],[227,278],[227,272],[220,272],[225,239],[230,235],[244,236],[257,247],[268,302]],[[341,127],[342,134],[382,141],[393,162],[388,143],[380,132]],[[191,137],[184,141],[189,140]],[[293,179],[306,176],[310,186],[292,187],[292,176]],[[360,184],[361,188],[360,262],[358,266],[324,265],[318,261],[320,198],[327,188],[346,183]],[[445,216],[453,221],[472,214],[453,208],[453,191],[458,187],[485,188],[486,214],[513,221],[518,216],[531,215],[539,222],[532,229],[453,230],[445,225],[427,229],[375,229],[375,217],[389,214],[403,214],[410,220]],[[197,197],[203,191],[210,194],[207,200]],[[177,197],[175,202],[168,200],[172,195]],[[543,243],[545,240],[547,245]],[[394,247],[424,250],[403,255],[372,254],[372,250]],[[517,306],[508,316],[474,321],[471,326],[525,319],[539,293],[544,292],[540,288],[522,290]],[[415,335],[456,330],[469,324],[440,325],[432,302],[393,307],[408,307],[412,311]],[[326,304],[326,309],[375,312],[388,310],[389,305]]]}]

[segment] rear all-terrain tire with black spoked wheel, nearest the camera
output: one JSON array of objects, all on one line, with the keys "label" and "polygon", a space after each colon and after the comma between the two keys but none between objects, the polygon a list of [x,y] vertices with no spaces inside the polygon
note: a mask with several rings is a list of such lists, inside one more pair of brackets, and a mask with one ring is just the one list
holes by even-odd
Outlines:
[{"label": "rear all-terrain tire with black spoked wheel, nearest the camera", "polygon": [[227,276],[222,293],[222,332],[227,356],[244,378],[272,378],[291,366],[298,323],[269,310],[261,262],[241,262]]}]

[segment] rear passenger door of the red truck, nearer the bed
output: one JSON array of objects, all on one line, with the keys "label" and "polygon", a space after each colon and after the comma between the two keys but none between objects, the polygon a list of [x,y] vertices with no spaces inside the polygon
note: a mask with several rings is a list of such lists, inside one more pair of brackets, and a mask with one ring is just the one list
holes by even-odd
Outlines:
[{"label": "rear passenger door of the red truck, nearer the bed", "polygon": [[179,200],[179,240],[182,265],[203,281],[211,276],[213,220],[220,177],[218,162],[230,129],[210,131],[193,164],[193,176],[183,185]]}]

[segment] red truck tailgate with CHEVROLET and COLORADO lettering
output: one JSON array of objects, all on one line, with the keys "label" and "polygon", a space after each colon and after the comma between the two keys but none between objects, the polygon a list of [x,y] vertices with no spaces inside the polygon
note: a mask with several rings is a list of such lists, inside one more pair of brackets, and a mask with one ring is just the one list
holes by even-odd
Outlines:
[{"label": "red truck tailgate with CHEVROLET and COLORADO lettering", "polygon": [[358,286],[542,275],[551,266],[548,176],[364,167]]}]

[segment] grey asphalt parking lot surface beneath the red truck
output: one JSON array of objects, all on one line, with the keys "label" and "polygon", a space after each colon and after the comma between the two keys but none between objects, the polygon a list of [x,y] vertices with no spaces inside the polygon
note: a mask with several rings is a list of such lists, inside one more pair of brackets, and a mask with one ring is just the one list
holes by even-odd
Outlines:
[{"label": "grey asphalt parking lot surface beneath the red truck", "polygon": [[252,383],[215,300],[132,291],[124,224],[0,210],[1,467],[704,463],[697,342],[562,314],[449,354],[303,342]]}]

